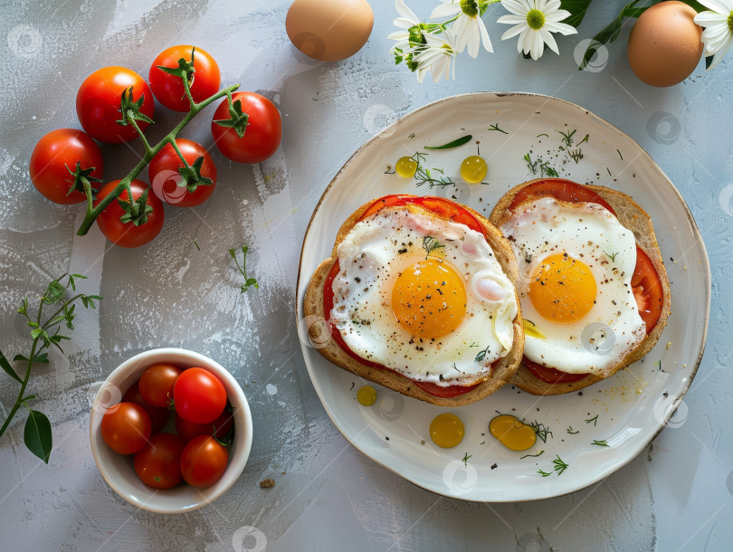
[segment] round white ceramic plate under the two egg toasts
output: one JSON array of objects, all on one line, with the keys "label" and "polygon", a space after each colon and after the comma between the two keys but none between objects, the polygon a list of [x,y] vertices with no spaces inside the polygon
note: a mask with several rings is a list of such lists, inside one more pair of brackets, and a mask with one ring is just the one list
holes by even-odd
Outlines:
[{"label": "round white ceramic plate under the two egg toasts", "polygon": [[[508,134],[488,130],[495,124]],[[559,149],[562,136],[558,131],[573,129],[573,149],[579,147],[583,154],[577,163]],[[387,164],[394,167],[401,156],[466,134],[481,141],[481,154],[490,167],[488,185],[468,186],[458,176],[462,159],[476,152],[473,141],[427,156],[425,165],[443,169],[456,186],[431,190],[416,187],[413,179],[384,174]],[[585,135],[588,140],[579,144]],[[457,447],[441,449],[431,441],[428,426],[437,414],[451,409],[380,386],[376,404],[358,404],[357,390],[364,382],[328,363],[309,344],[307,322],[302,319],[303,294],[319,262],[329,256],[338,227],[359,205],[395,193],[443,195],[488,215],[511,186],[534,177],[522,158],[528,152],[532,160],[542,156],[549,161],[560,176],[613,187],[643,206],[652,217],[669,272],[672,315],[657,347],[643,361],[582,393],[537,397],[507,385],[478,403],[452,410],[461,417],[466,434]],[[297,297],[310,378],[333,423],[359,451],[408,481],[446,496],[536,500],[602,480],[642,452],[665,424],[684,421],[687,407],[682,397],[705,345],[710,273],[705,247],[687,205],[660,167],[631,138],[563,100],[485,92],[454,96],[417,109],[371,138],[347,161],[310,221]],[[538,440],[527,452],[511,452],[488,432],[496,411],[544,424],[551,435],[546,443]],[[595,422],[585,422],[596,414]],[[591,444],[595,440],[609,446]],[[539,451],[545,452],[520,459]],[[562,473],[553,469],[552,461],[557,458],[568,464]],[[542,477],[540,469],[551,475]]]}]

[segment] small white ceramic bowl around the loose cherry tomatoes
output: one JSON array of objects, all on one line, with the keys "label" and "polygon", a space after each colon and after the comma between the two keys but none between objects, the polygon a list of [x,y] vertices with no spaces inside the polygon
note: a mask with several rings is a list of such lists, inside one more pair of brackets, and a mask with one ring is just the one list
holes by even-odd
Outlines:
[{"label": "small white ceramic bowl around the loose cherry tomatoes", "polygon": [[[234,411],[234,442],[229,448],[229,462],[222,478],[210,487],[197,488],[181,483],[173,489],[152,489],[140,481],[135,473],[132,463],[134,455],[118,454],[102,439],[100,426],[104,413],[109,407],[119,403],[122,395],[138,381],[148,366],[157,362],[169,362],[182,368],[205,368],[224,384]],[[91,407],[90,441],[91,452],[102,477],[120,497],[139,508],[158,513],[187,512],[216,500],[237,481],[252,447],[252,414],[242,387],[224,366],[186,349],[158,348],[129,358],[105,380]]]}]

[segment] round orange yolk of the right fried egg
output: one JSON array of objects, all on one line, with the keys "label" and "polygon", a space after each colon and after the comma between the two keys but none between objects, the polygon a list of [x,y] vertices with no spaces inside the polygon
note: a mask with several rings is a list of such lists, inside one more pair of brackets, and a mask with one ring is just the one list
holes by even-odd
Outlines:
[{"label": "round orange yolk of the right fried egg", "polygon": [[545,319],[568,324],[582,319],[595,301],[595,278],[585,262],[564,254],[538,264],[529,282],[529,299]]}]

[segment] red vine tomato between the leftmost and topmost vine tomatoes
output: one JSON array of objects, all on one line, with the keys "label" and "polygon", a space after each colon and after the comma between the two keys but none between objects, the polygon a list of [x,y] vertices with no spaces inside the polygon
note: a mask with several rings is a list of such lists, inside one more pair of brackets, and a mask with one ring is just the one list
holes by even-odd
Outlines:
[{"label": "red vine tomato between the leftmost and topmost vine tomatoes", "polygon": [[[140,96],[145,96],[140,112],[152,118],[155,111],[155,100],[153,92],[150,91],[148,83],[135,71],[125,67],[103,67],[90,74],[81,83],[76,94],[76,114],[91,138],[119,144],[129,142],[136,138],[138,133],[132,125],[125,127],[118,125],[117,121],[122,119],[120,107],[122,92],[132,88],[132,100],[138,101]],[[136,121],[140,130],[145,130],[148,123]]]}]

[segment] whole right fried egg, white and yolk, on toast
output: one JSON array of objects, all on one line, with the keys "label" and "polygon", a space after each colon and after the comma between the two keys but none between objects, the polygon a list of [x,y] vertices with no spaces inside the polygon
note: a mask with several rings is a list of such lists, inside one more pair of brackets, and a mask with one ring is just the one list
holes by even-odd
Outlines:
[{"label": "whole right fried egg, white and yolk, on toast", "polygon": [[524,355],[571,374],[607,376],[646,336],[633,298],[633,232],[604,206],[543,197],[500,230],[519,264]]}]

